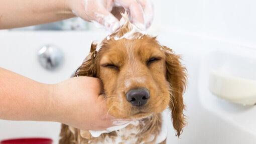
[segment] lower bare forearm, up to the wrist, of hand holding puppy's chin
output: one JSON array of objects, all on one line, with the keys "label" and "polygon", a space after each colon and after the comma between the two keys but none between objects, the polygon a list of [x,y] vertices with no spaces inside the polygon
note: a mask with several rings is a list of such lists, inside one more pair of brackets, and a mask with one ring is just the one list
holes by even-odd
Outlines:
[{"label": "lower bare forearm, up to the wrist, of hand holding puppy's chin", "polygon": [[51,86],[0,67],[0,119],[52,120]]}]

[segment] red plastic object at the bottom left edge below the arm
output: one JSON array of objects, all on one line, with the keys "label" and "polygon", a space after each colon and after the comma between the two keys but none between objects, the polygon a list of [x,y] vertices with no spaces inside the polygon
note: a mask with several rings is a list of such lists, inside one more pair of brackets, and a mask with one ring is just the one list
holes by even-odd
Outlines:
[{"label": "red plastic object at the bottom left edge below the arm", "polygon": [[52,144],[53,140],[49,138],[17,138],[3,140],[0,144]]}]

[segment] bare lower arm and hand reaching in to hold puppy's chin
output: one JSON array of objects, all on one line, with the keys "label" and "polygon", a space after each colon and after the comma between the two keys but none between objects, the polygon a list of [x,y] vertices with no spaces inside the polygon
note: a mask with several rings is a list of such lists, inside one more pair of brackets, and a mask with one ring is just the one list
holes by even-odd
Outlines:
[{"label": "bare lower arm and hand reaching in to hold puppy's chin", "polygon": [[98,78],[73,77],[57,84],[34,81],[0,67],[0,119],[58,121],[81,129],[112,126]]}]

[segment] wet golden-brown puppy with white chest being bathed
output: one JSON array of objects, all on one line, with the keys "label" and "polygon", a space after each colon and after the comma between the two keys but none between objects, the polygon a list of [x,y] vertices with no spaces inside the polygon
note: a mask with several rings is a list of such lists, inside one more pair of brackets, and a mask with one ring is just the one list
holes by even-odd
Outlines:
[{"label": "wet golden-brown puppy with white chest being bathed", "polygon": [[[129,125],[93,137],[89,131],[62,124],[59,143],[166,143],[161,112],[170,108],[180,136],[185,126],[183,93],[186,70],[180,56],[137,29],[129,20],[90,54],[75,76],[93,76],[104,86],[108,113],[136,119]],[[164,133],[164,137],[163,137]]]}]

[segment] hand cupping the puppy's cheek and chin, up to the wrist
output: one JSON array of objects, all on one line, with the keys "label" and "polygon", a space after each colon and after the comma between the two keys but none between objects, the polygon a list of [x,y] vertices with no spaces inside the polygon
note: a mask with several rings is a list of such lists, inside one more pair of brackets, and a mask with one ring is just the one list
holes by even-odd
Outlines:
[{"label": "hand cupping the puppy's cheek and chin, up to the wrist", "polygon": [[[98,78],[72,77],[52,85],[54,121],[83,130],[102,130],[129,121],[116,120],[108,114]],[[120,122],[121,121],[121,122]]]}]

